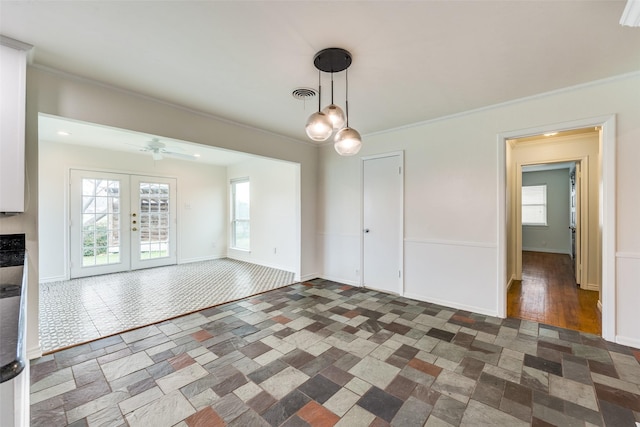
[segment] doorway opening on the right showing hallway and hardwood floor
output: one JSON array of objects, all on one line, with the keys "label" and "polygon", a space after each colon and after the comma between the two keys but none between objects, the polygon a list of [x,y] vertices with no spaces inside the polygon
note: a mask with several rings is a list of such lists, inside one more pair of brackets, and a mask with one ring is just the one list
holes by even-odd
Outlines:
[{"label": "doorway opening on the right showing hallway and hardwood floor", "polygon": [[[601,333],[600,168],[595,167],[600,162],[599,131],[590,127],[509,140],[516,175],[511,181],[516,265],[508,291],[509,315]],[[590,162],[594,167],[589,168]],[[572,258],[574,236],[580,245]],[[575,289],[577,284],[582,292]],[[585,292],[592,295],[580,295]]]}]

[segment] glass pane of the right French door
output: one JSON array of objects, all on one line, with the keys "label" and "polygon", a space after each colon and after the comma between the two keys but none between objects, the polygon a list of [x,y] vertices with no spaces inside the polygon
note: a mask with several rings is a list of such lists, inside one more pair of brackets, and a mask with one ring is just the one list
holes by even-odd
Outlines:
[{"label": "glass pane of the right French door", "polygon": [[140,259],[169,256],[169,184],[141,182]]}]

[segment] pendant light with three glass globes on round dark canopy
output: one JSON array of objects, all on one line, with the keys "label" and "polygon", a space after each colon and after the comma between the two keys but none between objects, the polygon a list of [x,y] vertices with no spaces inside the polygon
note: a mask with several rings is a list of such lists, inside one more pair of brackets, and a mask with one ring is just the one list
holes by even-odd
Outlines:
[{"label": "pendant light with three glass globes on round dark canopy", "polygon": [[[346,70],[351,65],[351,54],[341,48],[330,47],[316,53],[313,64],[318,69],[318,111],[307,120],[305,131],[314,141],[326,141],[337,131],[334,137],[334,148],[341,156],[353,156],[360,151],[362,138],[360,133],[349,127],[349,81]],[[333,102],[333,73],[345,71],[345,111]],[[331,104],[321,109],[322,86],[321,72],[331,74]]]}]

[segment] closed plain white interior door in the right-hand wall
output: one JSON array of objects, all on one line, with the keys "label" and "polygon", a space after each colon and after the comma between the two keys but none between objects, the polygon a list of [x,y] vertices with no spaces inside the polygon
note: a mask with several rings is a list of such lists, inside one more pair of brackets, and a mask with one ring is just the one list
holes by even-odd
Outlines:
[{"label": "closed plain white interior door in the right-hand wall", "polygon": [[402,294],[403,159],[363,159],[363,285]]}]

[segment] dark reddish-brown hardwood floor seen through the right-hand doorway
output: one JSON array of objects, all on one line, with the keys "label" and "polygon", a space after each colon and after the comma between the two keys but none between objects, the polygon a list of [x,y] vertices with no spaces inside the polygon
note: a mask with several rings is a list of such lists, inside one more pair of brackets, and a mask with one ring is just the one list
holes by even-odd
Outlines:
[{"label": "dark reddish-brown hardwood floor seen through the right-hand doorway", "polygon": [[598,292],[576,285],[569,255],[522,252],[522,281],[507,293],[507,316],[600,335]]}]

